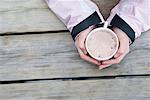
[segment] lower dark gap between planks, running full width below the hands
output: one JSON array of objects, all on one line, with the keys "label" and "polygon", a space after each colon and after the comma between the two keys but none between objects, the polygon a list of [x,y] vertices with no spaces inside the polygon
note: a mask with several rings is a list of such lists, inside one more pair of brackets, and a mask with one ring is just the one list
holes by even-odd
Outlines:
[{"label": "lower dark gap between planks, running full width below the hands", "polygon": [[68,77],[68,78],[43,78],[43,79],[26,79],[26,80],[9,80],[0,81],[2,84],[17,84],[17,83],[28,83],[28,82],[38,82],[38,81],[84,81],[84,80],[101,80],[101,79],[130,79],[130,78],[150,78],[150,74],[139,74],[139,75],[113,75],[113,76],[95,76],[95,77]]}]

